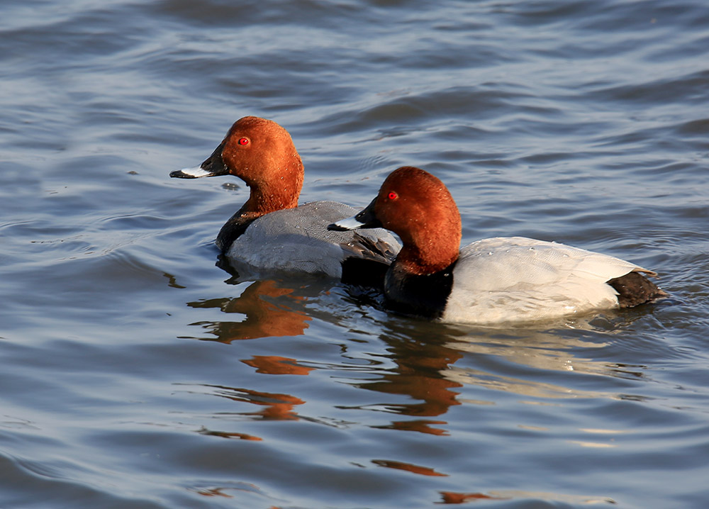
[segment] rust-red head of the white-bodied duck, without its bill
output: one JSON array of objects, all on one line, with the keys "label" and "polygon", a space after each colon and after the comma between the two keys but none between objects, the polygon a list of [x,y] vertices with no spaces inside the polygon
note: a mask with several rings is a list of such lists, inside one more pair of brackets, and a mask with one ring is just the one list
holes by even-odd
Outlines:
[{"label": "rust-red head of the white-bodied duck, without its bill", "polygon": [[423,169],[391,172],[376,196],[374,213],[384,228],[401,237],[398,262],[408,272],[437,272],[457,259],[460,213],[445,184]]}]

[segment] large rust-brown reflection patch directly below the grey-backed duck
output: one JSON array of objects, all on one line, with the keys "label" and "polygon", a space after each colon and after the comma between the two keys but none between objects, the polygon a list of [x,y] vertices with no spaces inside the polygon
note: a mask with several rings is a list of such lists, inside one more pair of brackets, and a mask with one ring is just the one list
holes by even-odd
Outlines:
[{"label": "large rust-brown reflection patch directly below the grey-backed duck", "polygon": [[[246,283],[245,283],[246,284]],[[245,315],[242,321],[219,320],[198,322],[214,337],[205,340],[230,343],[235,340],[252,340],[258,337],[281,337],[302,335],[311,318],[298,305],[306,297],[294,295],[295,289],[271,279],[253,281],[240,296],[235,298],[212,298],[206,301],[188,302],[193,308],[218,308],[223,313]]]}]

